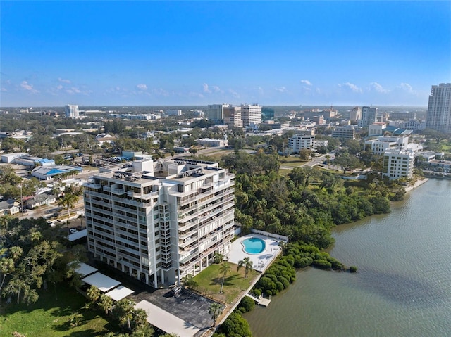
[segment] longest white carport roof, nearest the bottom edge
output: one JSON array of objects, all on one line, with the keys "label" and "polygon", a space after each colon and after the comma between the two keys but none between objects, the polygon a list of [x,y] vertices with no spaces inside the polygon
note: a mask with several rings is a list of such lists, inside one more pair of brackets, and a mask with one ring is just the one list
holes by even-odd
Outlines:
[{"label": "longest white carport roof, nearest the bottom edge", "polygon": [[142,300],[135,305],[135,308],[143,309],[147,313],[147,322],[166,333],[176,333],[180,337],[192,337],[200,330],[197,326],[175,317],[147,300]]}]

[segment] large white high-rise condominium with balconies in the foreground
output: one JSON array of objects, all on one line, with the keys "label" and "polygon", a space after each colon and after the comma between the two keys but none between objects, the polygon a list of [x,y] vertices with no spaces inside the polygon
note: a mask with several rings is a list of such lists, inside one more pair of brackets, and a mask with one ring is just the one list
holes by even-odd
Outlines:
[{"label": "large white high-rise condominium with balconies in the foreground", "polygon": [[234,175],[200,160],[136,160],[85,184],[88,250],[146,284],[180,284],[226,254]]}]

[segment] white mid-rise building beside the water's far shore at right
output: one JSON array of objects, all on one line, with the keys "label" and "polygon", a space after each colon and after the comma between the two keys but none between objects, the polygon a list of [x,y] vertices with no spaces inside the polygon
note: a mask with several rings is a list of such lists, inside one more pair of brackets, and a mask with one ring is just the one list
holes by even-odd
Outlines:
[{"label": "white mid-rise building beside the water's far shore at right", "polygon": [[383,153],[383,176],[390,180],[400,177],[412,178],[414,174],[414,153],[411,151],[390,150]]}]

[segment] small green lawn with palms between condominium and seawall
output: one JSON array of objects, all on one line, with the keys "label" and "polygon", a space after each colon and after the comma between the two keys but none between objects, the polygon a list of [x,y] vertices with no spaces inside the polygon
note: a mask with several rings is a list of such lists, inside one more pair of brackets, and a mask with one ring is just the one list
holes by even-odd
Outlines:
[{"label": "small green lawn with palms between condominium and seawall", "polygon": [[197,282],[197,291],[202,293],[202,295],[206,295],[206,297],[213,298],[221,303],[233,303],[249,288],[252,281],[259,276],[259,272],[249,272],[247,279],[245,279],[244,267],[237,272],[237,265],[230,262],[226,263],[229,263],[232,269],[230,274],[227,274],[224,279],[223,293],[219,293],[223,276],[219,272],[220,265],[211,265],[202,270],[202,272],[194,276],[194,280]]}]

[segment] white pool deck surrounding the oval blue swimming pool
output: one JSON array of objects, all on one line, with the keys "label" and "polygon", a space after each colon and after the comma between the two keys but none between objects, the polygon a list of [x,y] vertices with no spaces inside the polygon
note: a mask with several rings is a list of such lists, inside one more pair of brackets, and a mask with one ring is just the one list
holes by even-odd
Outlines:
[{"label": "white pool deck surrounding the oval blue swimming pool", "polygon": [[[265,241],[266,247],[264,251],[259,254],[249,254],[246,253],[243,246],[242,241],[250,238],[259,238]],[[232,243],[232,248],[230,252],[226,255],[226,259],[228,262],[238,264],[239,261],[243,260],[245,257],[249,257],[252,261],[252,267],[257,272],[264,272],[266,268],[271,264],[271,262],[279,255],[280,239],[273,239],[268,236],[264,236],[261,234],[248,234],[242,236]]]}]

